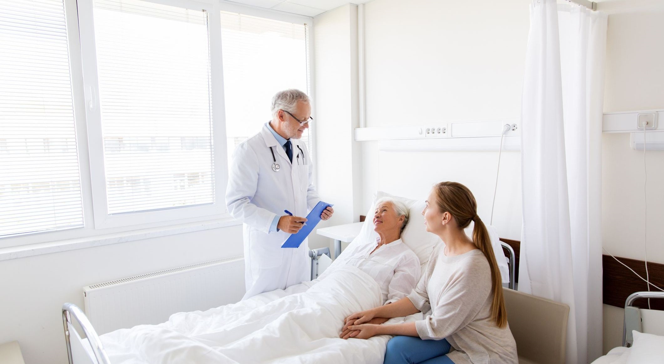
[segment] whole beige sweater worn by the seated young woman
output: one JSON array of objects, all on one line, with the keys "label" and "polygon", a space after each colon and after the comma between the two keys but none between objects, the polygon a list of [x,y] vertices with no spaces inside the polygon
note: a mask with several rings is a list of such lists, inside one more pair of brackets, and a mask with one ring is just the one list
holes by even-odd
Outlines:
[{"label": "whole beige sweater worn by the seated young woman", "polygon": [[422,339],[448,339],[455,364],[517,364],[517,344],[509,325],[491,320],[491,270],[484,254],[471,250],[446,256],[439,244],[426,273],[408,295],[424,313],[415,322]]}]

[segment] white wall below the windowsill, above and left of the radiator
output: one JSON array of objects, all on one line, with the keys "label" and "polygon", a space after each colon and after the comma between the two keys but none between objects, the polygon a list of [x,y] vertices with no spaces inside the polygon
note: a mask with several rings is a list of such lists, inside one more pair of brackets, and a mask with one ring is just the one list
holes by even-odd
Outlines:
[{"label": "white wall below the windowsill, above and left of the radiator", "polygon": [[65,364],[60,308],[83,308],[84,286],[236,255],[241,226],[0,261],[0,343],[18,340],[27,364]]}]

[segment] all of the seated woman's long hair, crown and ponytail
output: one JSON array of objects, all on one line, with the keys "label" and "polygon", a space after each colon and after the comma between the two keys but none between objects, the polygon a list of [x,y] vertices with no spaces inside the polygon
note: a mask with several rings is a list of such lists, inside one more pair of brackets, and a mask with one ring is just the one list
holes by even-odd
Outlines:
[{"label": "all of the seated woman's long hair, crown and ponytail", "polygon": [[493,254],[491,238],[484,223],[477,216],[477,202],[473,193],[457,182],[441,182],[434,186],[436,191],[436,203],[441,213],[448,212],[454,216],[460,229],[466,228],[470,222],[475,223],[473,227],[473,244],[477,246],[489,261],[491,268],[491,288],[493,290],[493,302],[491,302],[491,319],[498,327],[507,325],[507,310],[505,310],[505,299],[503,298],[503,281],[501,279],[498,263]]}]

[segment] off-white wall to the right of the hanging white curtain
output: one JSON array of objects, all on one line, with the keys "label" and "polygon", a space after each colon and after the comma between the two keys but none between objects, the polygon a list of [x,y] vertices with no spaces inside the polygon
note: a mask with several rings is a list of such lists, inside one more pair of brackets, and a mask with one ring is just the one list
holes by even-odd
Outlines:
[{"label": "off-white wall to the right of the hanging white curtain", "polygon": [[[604,112],[664,108],[664,2],[606,1],[608,18]],[[660,120],[659,122],[662,122]],[[664,263],[664,151],[647,151],[647,216],[643,151],[629,134],[602,138],[602,236],[615,256],[643,260],[647,219],[648,260]],[[604,305],[604,351],[622,343],[621,308]]]}]

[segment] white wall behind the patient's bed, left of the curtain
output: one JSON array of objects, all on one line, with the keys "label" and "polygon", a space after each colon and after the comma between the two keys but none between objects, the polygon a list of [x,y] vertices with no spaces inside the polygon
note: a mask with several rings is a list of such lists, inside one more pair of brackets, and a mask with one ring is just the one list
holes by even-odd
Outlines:
[{"label": "white wall behind the patient's bed, left of the curtain", "polygon": [[[375,0],[365,5],[367,126],[519,118],[529,0]],[[466,184],[491,218],[497,152],[380,151],[363,142],[364,198],[382,189],[424,198],[440,181]],[[521,157],[503,152],[494,213],[521,236]]]}]

